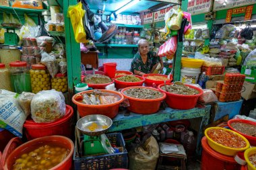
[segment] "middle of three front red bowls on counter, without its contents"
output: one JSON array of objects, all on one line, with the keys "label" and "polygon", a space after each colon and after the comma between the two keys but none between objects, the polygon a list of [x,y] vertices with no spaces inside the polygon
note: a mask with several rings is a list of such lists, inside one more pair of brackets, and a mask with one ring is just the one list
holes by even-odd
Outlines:
[{"label": "middle of three front red bowls on counter, without its contents", "polygon": [[154,114],[158,112],[161,102],[165,99],[166,94],[162,93],[162,97],[158,99],[138,99],[135,97],[130,97],[128,95],[125,95],[124,92],[127,89],[134,89],[134,88],[144,88],[144,89],[152,89],[154,91],[158,91],[158,89],[154,89],[152,87],[127,87],[121,91],[123,96],[129,100],[130,106],[128,110],[131,112],[134,112],[136,114]]}]

